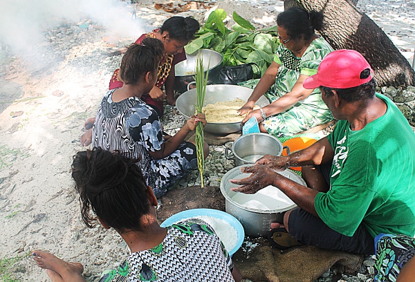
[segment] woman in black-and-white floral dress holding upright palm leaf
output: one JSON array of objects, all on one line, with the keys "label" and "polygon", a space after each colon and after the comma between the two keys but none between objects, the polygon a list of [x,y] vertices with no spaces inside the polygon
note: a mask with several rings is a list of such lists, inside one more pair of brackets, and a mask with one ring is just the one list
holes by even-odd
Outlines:
[{"label": "woman in black-and-white floral dress holding upright palm leaf", "polygon": [[[157,198],[192,169],[197,169],[196,146],[185,142],[197,122],[206,124],[203,113],[187,120],[174,136],[163,136],[158,113],[143,102],[157,80],[160,58],[165,50],[158,39],[146,37],[132,44],[122,57],[121,88],[108,91],[98,107],[93,125],[93,147],[120,150],[141,158],[140,167]],[[204,156],[209,154],[205,143]]]}]

